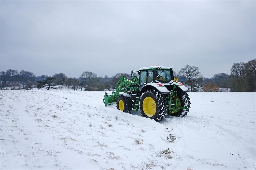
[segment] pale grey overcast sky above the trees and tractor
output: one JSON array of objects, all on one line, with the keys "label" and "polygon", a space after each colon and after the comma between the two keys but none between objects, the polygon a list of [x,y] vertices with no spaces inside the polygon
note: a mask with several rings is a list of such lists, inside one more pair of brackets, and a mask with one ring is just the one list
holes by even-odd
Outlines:
[{"label": "pale grey overcast sky above the trees and tractor", "polygon": [[0,71],[98,76],[256,58],[256,1],[0,1]]}]

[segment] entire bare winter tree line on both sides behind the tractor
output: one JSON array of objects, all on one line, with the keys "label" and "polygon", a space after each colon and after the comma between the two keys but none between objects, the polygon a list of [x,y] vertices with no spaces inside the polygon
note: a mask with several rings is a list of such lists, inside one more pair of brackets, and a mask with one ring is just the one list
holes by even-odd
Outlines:
[{"label": "entire bare winter tree line on both sides behind the tractor", "polygon": [[[129,73],[117,73],[112,77],[105,75],[98,77],[96,73],[84,71],[79,78],[67,77],[64,73],[54,74],[52,76],[36,76],[29,71],[20,71],[8,69],[0,72],[0,89],[32,89],[37,87],[41,89],[47,86],[47,89],[58,89],[60,86],[66,86],[73,90],[109,90],[112,91],[120,79],[131,79]],[[174,76],[179,78],[190,91],[204,92],[255,92],[256,91],[256,59],[247,63],[234,63],[231,66],[230,74],[218,73],[212,78],[204,78],[197,66],[186,65]]]}]

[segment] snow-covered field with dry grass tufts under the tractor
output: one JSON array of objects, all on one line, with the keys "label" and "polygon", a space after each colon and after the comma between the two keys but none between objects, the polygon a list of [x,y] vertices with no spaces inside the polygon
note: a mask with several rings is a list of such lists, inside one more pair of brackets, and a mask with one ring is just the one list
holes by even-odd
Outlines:
[{"label": "snow-covered field with dry grass tufts under the tractor", "polygon": [[103,96],[0,90],[0,169],[256,169],[256,93],[189,92],[161,123]]}]

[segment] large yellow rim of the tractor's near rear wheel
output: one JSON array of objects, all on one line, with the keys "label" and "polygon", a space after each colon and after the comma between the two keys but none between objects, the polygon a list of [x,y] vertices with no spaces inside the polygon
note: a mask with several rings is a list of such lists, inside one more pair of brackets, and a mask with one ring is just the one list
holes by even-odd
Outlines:
[{"label": "large yellow rim of the tractor's near rear wheel", "polygon": [[156,102],[152,97],[146,97],[143,100],[142,108],[148,117],[152,117],[156,114]]}]

